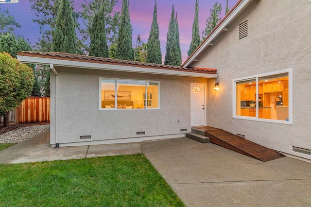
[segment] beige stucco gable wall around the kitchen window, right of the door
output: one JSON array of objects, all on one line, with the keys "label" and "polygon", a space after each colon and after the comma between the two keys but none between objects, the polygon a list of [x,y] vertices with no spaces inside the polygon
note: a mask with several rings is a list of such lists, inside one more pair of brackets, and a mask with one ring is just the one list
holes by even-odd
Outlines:
[{"label": "beige stucco gable wall around the kitchen window, right of the door", "polygon": [[[248,36],[239,40],[239,24],[248,20]],[[218,69],[220,91],[208,80],[208,125],[266,147],[293,152],[311,149],[311,2],[309,0],[254,0],[223,32],[213,47],[192,67]],[[293,68],[293,124],[232,118],[232,80]]]}]

